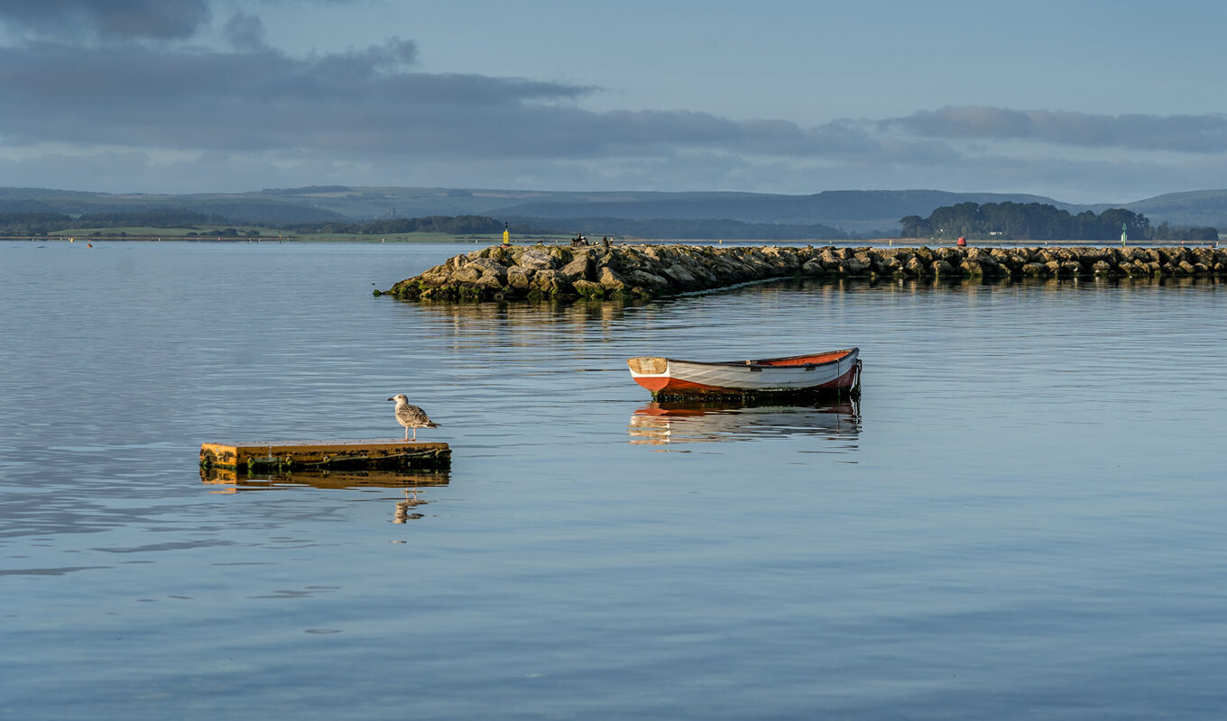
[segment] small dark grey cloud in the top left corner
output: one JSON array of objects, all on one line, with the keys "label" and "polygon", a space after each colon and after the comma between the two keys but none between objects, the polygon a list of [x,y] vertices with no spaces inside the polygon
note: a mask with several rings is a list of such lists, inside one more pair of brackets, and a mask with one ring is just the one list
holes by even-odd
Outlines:
[{"label": "small dark grey cloud in the top left corner", "polygon": [[109,38],[185,38],[211,20],[209,0],[4,0],[0,21],[64,34]]}]

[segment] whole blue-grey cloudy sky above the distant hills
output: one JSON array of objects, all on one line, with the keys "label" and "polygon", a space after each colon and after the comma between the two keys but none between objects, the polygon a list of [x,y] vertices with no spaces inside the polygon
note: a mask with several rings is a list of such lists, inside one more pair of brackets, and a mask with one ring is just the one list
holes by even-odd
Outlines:
[{"label": "whole blue-grey cloudy sky above the distant hills", "polygon": [[1220,0],[2,0],[0,186],[1227,188]]}]

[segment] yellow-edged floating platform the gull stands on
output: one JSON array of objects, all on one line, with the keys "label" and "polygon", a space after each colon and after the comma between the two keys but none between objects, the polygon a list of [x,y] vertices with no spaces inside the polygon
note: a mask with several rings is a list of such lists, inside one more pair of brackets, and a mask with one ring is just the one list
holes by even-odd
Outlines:
[{"label": "yellow-edged floating platform the gull stands on", "polygon": [[394,471],[447,470],[452,448],[445,443],[374,440],[256,440],[200,444],[200,467],[260,472],[378,468]]}]

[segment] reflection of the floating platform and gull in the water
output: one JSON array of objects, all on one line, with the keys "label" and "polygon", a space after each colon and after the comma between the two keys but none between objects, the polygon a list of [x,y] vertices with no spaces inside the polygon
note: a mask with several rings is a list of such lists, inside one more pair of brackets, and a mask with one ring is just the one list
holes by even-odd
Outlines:
[{"label": "reflection of the floating platform and gull in the water", "polygon": [[333,490],[396,488],[404,493],[405,498],[404,500],[394,502],[393,522],[404,524],[405,521],[425,517],[423,514],[417,513],[417,509],[431,502],[418,495],[418,492],[423,488],[448,486],[452,482],[452,473],[448,471],[423,471],[416,473],[394,471],[299,471],[283,475],[249,475],[225,468],[201,468],[200,481],[221,487],[217,493],[288,488],[321,488]]}]

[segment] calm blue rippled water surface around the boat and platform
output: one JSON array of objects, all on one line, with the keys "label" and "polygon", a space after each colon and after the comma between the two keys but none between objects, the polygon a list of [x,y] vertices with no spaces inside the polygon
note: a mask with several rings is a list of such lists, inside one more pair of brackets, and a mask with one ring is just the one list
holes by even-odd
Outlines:
[{"label": "calm blue rippled water surface around the boat and platform", "polygon": [[[1212,283],[374,298],[472,245],[0,243],[6,719],[1218,719]],[[859,346],[859,403],[625,358]],[[449,475],[201,479],[202,441]]]}]

